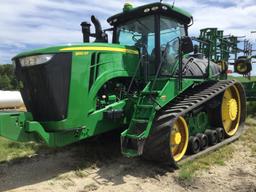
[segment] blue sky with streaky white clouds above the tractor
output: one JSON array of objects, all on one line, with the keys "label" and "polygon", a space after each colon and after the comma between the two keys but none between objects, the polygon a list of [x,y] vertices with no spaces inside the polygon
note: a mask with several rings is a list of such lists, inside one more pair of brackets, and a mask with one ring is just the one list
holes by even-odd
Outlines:
[{"label": "blue sky with streaky white clouds above the tractor", "polygon": [[[0,63],[10,63],[22,51],[82,41],[80,23],[94,14],[106,19],[121,12],[126,0],[0,0]],[[134,6],[156,1],[131,0]],[[164,2],[172,3],[173,0]],[[256,43],[256,0],[176,0],[175,5],[190,12],[197,36],[205,27],[218,27],[225,34],[247,36]],[[255,67],[256,68],[256,67]],[[256,73],[256,69],[255,69]]]}]

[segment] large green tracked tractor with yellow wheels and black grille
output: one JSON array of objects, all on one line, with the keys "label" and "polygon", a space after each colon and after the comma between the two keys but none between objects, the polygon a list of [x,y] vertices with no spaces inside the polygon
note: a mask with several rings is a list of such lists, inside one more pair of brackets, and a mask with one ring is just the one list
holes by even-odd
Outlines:
[{"label": "large green tracked tractor with yellow wheels and black grille", "polygon": [[175,167],[240,135],[243,86],[194,50],[189,13],[157,2],[126,4],[110,29],[91,19],[84,43],[13,58],[28,112],[1,112],[1,136],[62,147],[125,127],[123,155]]}]

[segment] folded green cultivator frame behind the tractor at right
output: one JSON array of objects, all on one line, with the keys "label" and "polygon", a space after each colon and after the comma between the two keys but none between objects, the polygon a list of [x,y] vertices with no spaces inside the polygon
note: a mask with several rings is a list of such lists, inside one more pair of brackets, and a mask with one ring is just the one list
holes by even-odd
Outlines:
[{"label": "folded green cultivator frame behind the tractor at right", "polygon": [[256,79],[251,77],[253,59],[256,56],[253,55],[255,50],[250,41],[240,40],[241,38],[232,35],[224,36],[224,31],[217,28],[202,29],[198,39],[201,40],[199,52],[218,63],[227,72],[229,66],[233,66],[233,72],[243,77],[237,79],[244,85],[247,100],[256,101]]}]

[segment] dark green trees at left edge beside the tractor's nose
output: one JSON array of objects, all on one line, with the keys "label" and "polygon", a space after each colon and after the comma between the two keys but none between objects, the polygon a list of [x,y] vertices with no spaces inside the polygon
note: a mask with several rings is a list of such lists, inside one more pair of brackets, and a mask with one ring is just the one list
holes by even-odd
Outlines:
[{"label": "dark green trees at left edge beside the tractor's nose", "polygon": [[19,90],[20,85],[14,75],[14,66],[0,64],[0,90]]}]

